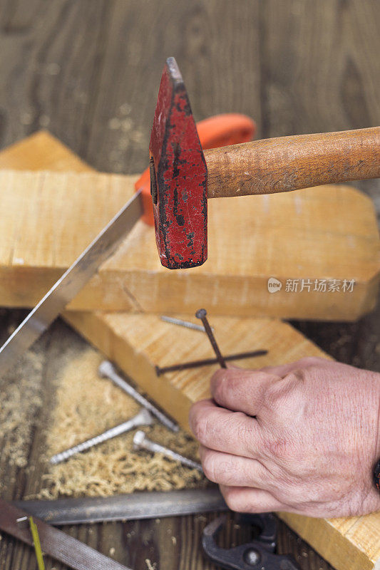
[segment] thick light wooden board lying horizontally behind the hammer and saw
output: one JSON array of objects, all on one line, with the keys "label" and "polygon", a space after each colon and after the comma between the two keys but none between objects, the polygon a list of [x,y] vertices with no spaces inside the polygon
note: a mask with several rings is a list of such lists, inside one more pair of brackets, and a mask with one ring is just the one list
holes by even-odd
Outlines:
[{"label": "thick light wooden board lying horizontally behind the hammer and saw", "polygon": [[[45,132],[9,147],[0,167],[48,169],[55,153],[57,170],[90,170]],[[49,192],[25,181],[7,186],[0,174],[1,305],[34,306],[133,194],[135,179],[120,177],[124,184],[115,185],[99,178],[81,187],[71,175]],[[324,186],[213,199],[208,206],[203,266],[165,269],[154,229],[138,222],[69,309],[193,314],[201,300],[213,314],[354,321],[374,307],[379,232],[371,200],[361,192]],[[270,277],[282,282],[281,291],[269,293]],[[287,279],[299,281],[297,292],[287,291]],[[302,279],[309,285],[300,291]],[[316,279],[327,279],[327,291],[314,290]],[[354,280],[353,291],[328,291],[332,279],[341,289]]]}]

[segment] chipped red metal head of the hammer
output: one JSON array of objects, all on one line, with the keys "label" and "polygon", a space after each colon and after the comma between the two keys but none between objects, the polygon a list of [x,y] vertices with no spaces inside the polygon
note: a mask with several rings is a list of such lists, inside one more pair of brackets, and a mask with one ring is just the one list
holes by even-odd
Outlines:
[{"label": "chipped red metal head of the hammer", "polygon": [[155,240],[169,269],[207,259],[207,167],[183,78],[168,58],[150,135]]}]

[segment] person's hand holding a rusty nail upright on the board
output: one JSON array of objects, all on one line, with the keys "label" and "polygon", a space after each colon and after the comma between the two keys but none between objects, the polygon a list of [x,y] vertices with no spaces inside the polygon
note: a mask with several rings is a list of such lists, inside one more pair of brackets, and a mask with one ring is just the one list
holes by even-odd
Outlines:
[{"label": "person's hand holding a rusty nail upright on the board", "polygon": [[239,512],[342,517],[380,509],[380,374],[304,358],[227,368],[192,406],[206,477]]}]

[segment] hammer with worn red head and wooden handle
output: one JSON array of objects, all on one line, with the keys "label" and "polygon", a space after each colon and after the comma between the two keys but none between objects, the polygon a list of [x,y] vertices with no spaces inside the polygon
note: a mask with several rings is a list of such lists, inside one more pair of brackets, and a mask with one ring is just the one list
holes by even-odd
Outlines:
[{"label": "hammer with worn red head and wooden handle", "polygon": [[150,135],[150,194],[163,266],[207,259],[207,198],[289,192],[380,177],[380,128],[269,138],[203,152],[174,58],[163,69]]}]

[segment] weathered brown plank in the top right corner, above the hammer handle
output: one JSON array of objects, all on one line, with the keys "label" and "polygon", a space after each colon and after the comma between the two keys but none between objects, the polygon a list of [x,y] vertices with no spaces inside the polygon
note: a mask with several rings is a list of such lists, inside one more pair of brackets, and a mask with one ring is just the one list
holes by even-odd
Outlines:
[{"label": "weathered brown plank in the top right corner, above the hammer handle", "polygon": [[261,17],[262,136],[378,125],[376,0],[269,0],[262,3]]}]

